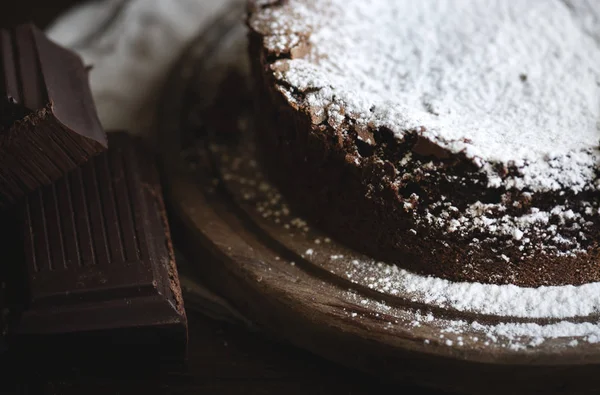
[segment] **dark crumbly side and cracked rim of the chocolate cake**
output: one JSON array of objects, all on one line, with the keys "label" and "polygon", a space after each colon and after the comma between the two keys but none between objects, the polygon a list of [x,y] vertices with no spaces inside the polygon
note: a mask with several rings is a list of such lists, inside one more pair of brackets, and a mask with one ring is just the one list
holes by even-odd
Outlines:
[{"label": "dark crumbly side and cracked rim of the chocolate cake", "polygon": [[[319,4],[326,13],[336,1]],[[323,66],[314,38],[321,26],[296,15],[314,7],[310,0],[249,2],[259,147],[297,209],[340,241],[422,274],[522,286],[600,280],[594,147],[584,150],[592,174],[584,174],[587,165],[574,170],[584,181],[557,188],[557,176],[556,185],[540,187],[527,184],[518,166],[489,161],[498,183],[481,158],[440,144],[427,126],[400,134],[394,125],[363,125],[352,111],[336,119],[343,106],[319,112],[314,93],[323,87],[290,77],[303,67],[295,60]],[[299,17],[308,22],[286,22]]]}]

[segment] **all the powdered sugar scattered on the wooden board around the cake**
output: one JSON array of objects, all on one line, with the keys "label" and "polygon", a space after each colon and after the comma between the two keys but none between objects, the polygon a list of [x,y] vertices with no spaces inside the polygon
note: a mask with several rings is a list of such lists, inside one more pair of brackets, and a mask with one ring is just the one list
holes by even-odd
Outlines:
[{"label": "all the powdered sugar scattered on the wooden board around the cake", "polygon": [[[382,299],[383,295],[395,296],[416,306],[410,317],[399,318],[393,316],[394,308],[385,301],[366,298],[349,289],[346,296],[360,306],[360,309],[346,311],[350,318],[366,319],[364,309],[368,309],[369,314],[375,314],[378,319],[389,319],[388,328],[400,324],[435,326],[442,337],[424,339],[424,343],[438,342],[449,347],[477,344],[520,351],[550,340],[562,339],[564,347],[600,342],[600,283],[539,288],[457,283],[372,261],[344,249],[309,227],[290,209],[277,188],[266,180],[254,159],[252,144],[243,145],[245,148],[241,153],[219,145],[211,146],[213,154],[219,158],[223,182],[258,218],[280,226],[281,232],[288,232],[297,241],[305,241],[306,248],[298,251],[299,259],[326,260],[335,268],[334,274],[350,283],[377,291],[382,294]],[[285,263],[280,257],[277,261]],[[287,263],[297,266],[296,260]],[[497,322],[484,324],[477,319],[440,319],[431,311],[435,308],[497,317]],[[473,332],[481,333],[481,336],[466,335]]]}]

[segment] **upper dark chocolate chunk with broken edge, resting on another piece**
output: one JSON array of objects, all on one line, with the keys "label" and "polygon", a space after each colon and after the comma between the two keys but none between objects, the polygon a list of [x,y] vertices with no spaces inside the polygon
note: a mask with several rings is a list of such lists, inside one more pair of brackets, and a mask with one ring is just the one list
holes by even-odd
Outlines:
[{"label": "upper dark chocolate chunk with broken edge, resting on another piece", "polygon": [[88,72],[35,26],[0,30],[0,208],[105,151]]}]

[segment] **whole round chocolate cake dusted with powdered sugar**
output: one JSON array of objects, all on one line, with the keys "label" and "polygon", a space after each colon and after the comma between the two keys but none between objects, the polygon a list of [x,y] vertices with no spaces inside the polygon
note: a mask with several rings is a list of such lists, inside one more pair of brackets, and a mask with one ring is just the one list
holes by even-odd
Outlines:
[{"label": "whole round chocolate cake dusted with powdered sugar", "polygon": [[339,241],[417,273],[600,281],[599,11],[249,1],[270,177]]}]

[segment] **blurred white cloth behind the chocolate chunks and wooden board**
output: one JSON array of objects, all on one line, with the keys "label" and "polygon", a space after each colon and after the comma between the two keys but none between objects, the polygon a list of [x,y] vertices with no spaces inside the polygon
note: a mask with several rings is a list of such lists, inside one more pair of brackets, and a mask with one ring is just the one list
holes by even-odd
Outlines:
[{"label": "blurred white cloth behind the chocolate chunks and wooden board", "polygon": [[232,0],[102,0],[60,17],[56,42],[93,66],[90,83],[107,130],[154,139],[157,99],[189,41]]}]

